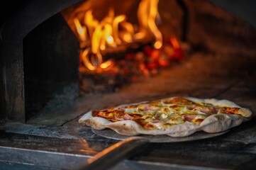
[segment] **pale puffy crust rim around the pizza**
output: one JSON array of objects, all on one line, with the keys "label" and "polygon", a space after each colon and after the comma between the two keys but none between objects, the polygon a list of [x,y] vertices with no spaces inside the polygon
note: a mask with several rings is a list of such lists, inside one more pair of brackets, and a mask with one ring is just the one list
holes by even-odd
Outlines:
[{"label": "pale puffy crust rim around the pizza", "polygon": [[[225,107],[239,107],[235,103],[227,100],[216,100],[211,99],[201,99],[201,98],[191,98],[184,97],[196,103],[211,103],[214,106],[225,106]],[[165,98],[167,99],[167,98]],[[165,100],[164,99],[164,100]],[[171,99],[171,98],[169,98]],[[125,105],[122,105],[125,106]],[[252,112],[249,109],[241,108],[241,115],[227,115],[227,114],[216,114],[208,116],[200,125],[194,125],[192,123],[184,123],[180,125],[173,125],[166,130],[147,130],[142,126],[138,125],[133,120],[122,120],[118,122],[111,122],[104,118],[93,117],[91,111],[86,113],[79,119],[79,123],[84,123],[91,128],[96,130],[103,130],[105,128],[110,128],[121,135],[169,135],[171,137],[186,137],[194,132],[203,130],[204,132],[214,133],[222,132],[240,125],[246,120],[249,120]],[[245,117],[243,116],[245,115]]]}]

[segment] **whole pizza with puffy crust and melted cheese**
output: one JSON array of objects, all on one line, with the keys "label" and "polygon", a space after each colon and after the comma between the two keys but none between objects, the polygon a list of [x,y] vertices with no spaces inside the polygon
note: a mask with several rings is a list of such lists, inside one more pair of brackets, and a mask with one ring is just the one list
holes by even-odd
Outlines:
[{"label": "whole pizza with puffy crust and melted cheese", "polygon": [[222,132],[250,120],[252,111],[215,98],[172,97],[90,111],[79,119],[96,130],[121,135],[186,137],[197,131]]}]

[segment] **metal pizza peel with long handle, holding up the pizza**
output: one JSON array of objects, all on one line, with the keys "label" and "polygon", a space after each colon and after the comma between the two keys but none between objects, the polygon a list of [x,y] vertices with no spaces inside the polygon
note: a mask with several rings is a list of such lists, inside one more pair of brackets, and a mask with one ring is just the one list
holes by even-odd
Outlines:
[{"label": "metal pizza peel with long handle, holding up the pizza", "polygon": [[120,135],[117,132],[111,129],[104,129],[104,130],[94,130],[96,135],[101,137],[106,137],[112,140],[120,140],[116,144],[112,145],[104,149],[103,151],[99,152],[98,154],[94,155],[84,162],[84,164],[80,165],[77,170],[94,170],[94,169],[108,169],[111,166],[114,166],[121,160],[130,156],[135,149],[138,147],[145,145],[146,143],[169,143],[169,142],[187,142],[187,141],[194,141],[194,140],[203,140],[211,137],[217,137],[219,135],[223,135],[229,130],[223,132],[216,132],[216,133],[206,133],[203,131],[195,132],[188,137],[169,137],[167,135],[139,135],[139,136],[125,136]]}]

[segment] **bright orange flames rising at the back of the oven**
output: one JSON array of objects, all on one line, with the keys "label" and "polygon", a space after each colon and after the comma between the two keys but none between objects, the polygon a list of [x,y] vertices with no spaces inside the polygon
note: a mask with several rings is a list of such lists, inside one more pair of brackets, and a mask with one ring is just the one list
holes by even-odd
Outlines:
[{"label": "bright orange flames rising at the back of the oven", "polygon": [[82,49],[81,59],[87,69],[106,69],[113,65],[112,60],[105,61],[104,54],[116,47],[135,42],[147,42],[154,39],[154,47],[162,47],[162,34],[155,21],[159,18],[158,0],[142,0],[138,7],[139,29],[127,21],[125,15],[115,16],[113,8],[101,21],[94,18],[91,10],[84,14],[84,20],[74,18],[74,26]]}]

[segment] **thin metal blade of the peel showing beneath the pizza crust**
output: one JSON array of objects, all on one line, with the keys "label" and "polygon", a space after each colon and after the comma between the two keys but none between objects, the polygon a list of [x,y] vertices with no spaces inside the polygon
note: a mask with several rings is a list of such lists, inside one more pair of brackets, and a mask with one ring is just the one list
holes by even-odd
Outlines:
[{"label": "thin metal blade of the peel showing beneath the pizza crust", "polygon": [[[96,135],[100,135],[101,137],[107,137],[112,140],[126,140],[129,136],[119,135],[113,130],[105,129],[105,130],[94,130],[92,129]],[[140,135],[140,137],[144,137],[148,139],[150,142],[155,143],[165,143],[165,142],[186,142],[186,141],[193,141],[193,140],[203,140],[210,137],[216,137],[219,135],[225,134],[227,131],[224,132],[217,132],[217,133],[206,133],[206,132],[196,132],[193,135],[187,137],[169,137],[167,135]]]}]

